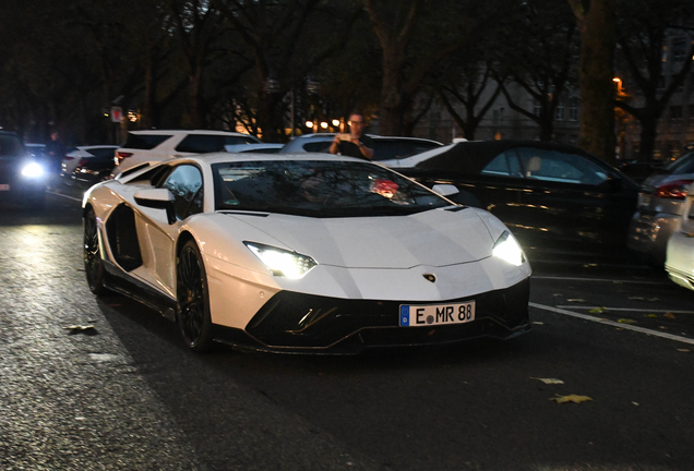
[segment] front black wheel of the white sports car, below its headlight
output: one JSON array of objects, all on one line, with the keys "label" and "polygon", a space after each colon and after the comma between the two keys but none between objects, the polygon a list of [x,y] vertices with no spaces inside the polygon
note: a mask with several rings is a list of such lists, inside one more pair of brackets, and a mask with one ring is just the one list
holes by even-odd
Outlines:
[{"label": "front black wheel of the white sports car, below its headlight", "polygon": [[188,241],[178,255],[176,301],[176,317],[186,345],[196,352],[208,351],[212,348],[212,318],[207,277],[194,241]]}]

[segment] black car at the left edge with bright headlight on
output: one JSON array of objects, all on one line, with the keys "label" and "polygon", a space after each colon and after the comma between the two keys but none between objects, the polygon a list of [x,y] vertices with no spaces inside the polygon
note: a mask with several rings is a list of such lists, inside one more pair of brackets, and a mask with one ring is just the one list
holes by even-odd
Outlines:
[{"label": "black car at the left edge with bright headlight on", "polygon": [[48,184],[44,158],[26,152],[15,133],[0,131],[0,200],[43,207]]}]

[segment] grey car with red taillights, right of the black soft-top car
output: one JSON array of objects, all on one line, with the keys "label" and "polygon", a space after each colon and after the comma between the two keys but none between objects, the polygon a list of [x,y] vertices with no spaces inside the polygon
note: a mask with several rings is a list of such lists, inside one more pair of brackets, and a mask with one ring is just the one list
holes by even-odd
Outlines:
[{"label": "grey car with red taillights, right of the black soft-top car", "polygon": [[680,228],[687,186],[694,181],[694,152],[648,177],[638,194],[627,245],[662,267],[668,240]]}]

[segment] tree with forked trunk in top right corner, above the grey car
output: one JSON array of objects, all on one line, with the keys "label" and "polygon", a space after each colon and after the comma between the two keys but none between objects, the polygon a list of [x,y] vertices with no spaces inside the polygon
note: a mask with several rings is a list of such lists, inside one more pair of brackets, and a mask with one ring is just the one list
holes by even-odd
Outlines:
[{"label": "tree with forked trunk in top right corner, above the grey car", "polygon": [[[638,155],[649,160],[657,136],[658,121],[672,95],[684,84],[694,56],[694,41],[689,39],[682,19],[694,17],[691,1],[649,0],[630,1],[620,16],[618,57],[622,59],[631,77],[630,83],[639,92],[638,104],[618,99],[617,106],[641,123]],[[678,37],[681,50],[669,51],[668,38]],[[670,68],[666,74],[666,67]],[[666,75],[670,77],[666,83]]]}]

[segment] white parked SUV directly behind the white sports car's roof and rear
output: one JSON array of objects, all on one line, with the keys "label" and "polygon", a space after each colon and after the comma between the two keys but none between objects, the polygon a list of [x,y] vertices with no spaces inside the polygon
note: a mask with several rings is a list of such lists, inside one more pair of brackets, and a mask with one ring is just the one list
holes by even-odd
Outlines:
[{"label": "white parked SUV directly behind the white sports car's roof and rear", "polygon": [[261,141],[227,131],[130,131],[125,143],[116,150],[112,176],[175,157],[225,152],[225,146],[234,144],[261,144]]}]

